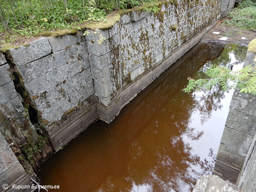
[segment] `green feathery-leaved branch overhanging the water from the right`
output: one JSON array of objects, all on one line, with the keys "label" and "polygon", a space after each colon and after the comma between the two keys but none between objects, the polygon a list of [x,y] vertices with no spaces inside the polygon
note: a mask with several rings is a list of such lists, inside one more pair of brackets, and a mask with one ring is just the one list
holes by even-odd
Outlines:
[{"label": "green feathery-leaved branch overhanging the water from the right", "polygon": [[[256,58],[254,60],[256,62]],[[212,65],[209,70],[205,72],[209,77],[207,79],[192,79],[188,77],[188,85],[185,92],[190,92],[193,89],[209,90],[212,86],[220,84],[222,90],[239,89],[240,92],[256,94],[256,65],[248,65],[236,72],[231,71],[226,67]]]}]

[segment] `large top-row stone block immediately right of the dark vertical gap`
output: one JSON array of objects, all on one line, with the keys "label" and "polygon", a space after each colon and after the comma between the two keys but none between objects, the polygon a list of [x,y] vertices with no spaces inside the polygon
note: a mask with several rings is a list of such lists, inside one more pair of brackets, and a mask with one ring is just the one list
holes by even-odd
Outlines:
[{"label": "large top-row stone block immediately right of the dark vertical gap", "polygon": [[18,49],[12,48],[9,50],[12,62],[19,67],[40,59],[51,52],[52,48],[45,37],[30,43],[29,46],[20,46]]}]

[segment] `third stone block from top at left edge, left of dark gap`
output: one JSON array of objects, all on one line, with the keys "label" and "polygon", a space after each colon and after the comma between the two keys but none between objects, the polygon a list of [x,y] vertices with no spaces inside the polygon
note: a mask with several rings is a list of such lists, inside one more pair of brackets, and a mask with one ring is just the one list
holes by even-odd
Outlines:
[{"label": "third stone block from top at left edge, left of dark gap", "polygon": [[14,97],[17,97],[17,93],[12,81],[0,86],[0,105],[12,100]]}]

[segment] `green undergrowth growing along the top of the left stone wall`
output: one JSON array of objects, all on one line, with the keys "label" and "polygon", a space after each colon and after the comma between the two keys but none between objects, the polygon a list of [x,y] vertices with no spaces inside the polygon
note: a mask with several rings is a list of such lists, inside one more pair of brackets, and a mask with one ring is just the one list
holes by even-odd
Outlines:
[{"label": "green undergrowth growing along the top of the left stone wall", "polygon": [[[52,34],[56,29],[80,30],[87,21],[107,22],[106,15],[116,9],[143,6],[156,0],[0,0],[1,43],[10,43],[19,36]],[[141,7],[140,7],[141,8]],[[142,9],[142,8],[141,8]],[[159,8],[152,5],[149,11]],[[87,24],[86,24],[87,25]],[[17,37],[17,38],[16,38]],[[6,39],[5,39],[6,38]]]}]

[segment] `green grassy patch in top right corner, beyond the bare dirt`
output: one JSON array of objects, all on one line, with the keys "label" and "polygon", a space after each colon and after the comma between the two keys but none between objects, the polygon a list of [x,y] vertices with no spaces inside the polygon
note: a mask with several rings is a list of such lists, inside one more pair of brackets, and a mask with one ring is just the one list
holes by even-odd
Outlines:
[{"label": "green grassy patch in top right corner, beyond the bare dirt", "polygon": [[225,24],[244,30],[256,30],[256,1],[243,0],[231,13],[231,20],[225,20]]}]

